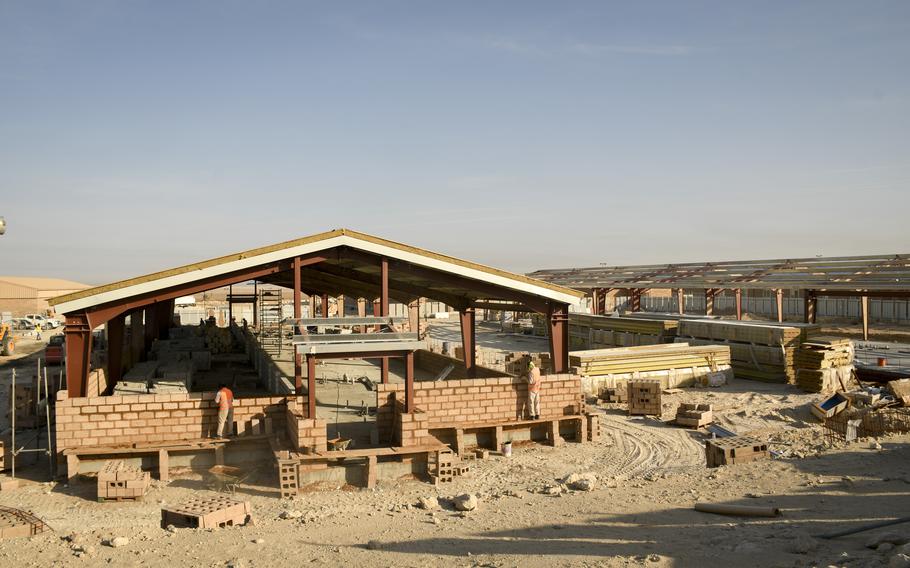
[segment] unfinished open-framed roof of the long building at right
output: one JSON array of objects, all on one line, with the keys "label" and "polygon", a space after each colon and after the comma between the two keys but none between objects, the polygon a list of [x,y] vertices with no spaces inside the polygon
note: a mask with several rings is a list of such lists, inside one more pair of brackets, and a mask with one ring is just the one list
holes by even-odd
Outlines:
[{"label": "unfinished open-framed roof of the long building at right", "polygon": [[910,255],[596,266],[538,270],[528,276],[580,290],[751,288],[904,292],[910,290]]}]

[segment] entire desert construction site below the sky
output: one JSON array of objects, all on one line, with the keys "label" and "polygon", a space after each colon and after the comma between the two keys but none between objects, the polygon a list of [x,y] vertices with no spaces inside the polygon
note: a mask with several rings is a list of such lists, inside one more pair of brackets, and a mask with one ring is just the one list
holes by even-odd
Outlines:
[{"label": "entire desert construction site below the sky", "polygon": [[57,296],[4,328],[0,563],[895,566],[908,278],[338,229]]}]

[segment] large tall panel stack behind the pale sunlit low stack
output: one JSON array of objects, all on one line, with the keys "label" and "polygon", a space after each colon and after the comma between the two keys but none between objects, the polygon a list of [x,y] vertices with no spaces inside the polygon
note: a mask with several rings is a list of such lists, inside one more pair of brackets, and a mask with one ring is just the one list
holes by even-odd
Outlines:
[{"label": "large tall panel stack behind the pale sunlit low stack", "polygon": [[719,320],[681,320],[676,341],[689,345],[726,345],[733,374],[768,383],[796,382],[796,352],[818,335],[815,324],[776,324]]}]

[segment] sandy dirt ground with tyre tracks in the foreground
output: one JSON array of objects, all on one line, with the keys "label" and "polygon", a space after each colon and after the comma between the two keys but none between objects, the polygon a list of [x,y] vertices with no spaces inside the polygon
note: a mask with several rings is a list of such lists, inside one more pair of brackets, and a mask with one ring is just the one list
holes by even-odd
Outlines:
[{"label": "sandy dirt ground with tyre tracks in the foreground", "polygon": [[[8,365],[0,375],[8,388]],[[405,478],[281,501],[266,466],[237,493],[251,502],[253,523],[219,530],[159,526],[163,505],[211,491],[193,472],[153,482],[143,502],[98,503],[93,477],[44,481],[47,465],[38,464],[25,472],[36,481],[0,492],[0,505],[32,511],[53,530],[0,540],[0,566],[888,566],[896,549],[865,545],[890,529],[815,535],[908,514],[910,436],[829,445],[808,411],[817,399],[735,380],[664,395],[660,419],[601,405],[600,441],[520,445],[510,458],[471,462],[468,475],[438,488]],[[713,404],[719,424],[769,440],[779,456],[706,468],[705,435],[669,424],[683,401]],[[572,473],[593,473],[593,491],[560,483]],[[455,510],[451,499],[463,493],[478,497],[476,510]],[[430,509],[418,506],[421,498]],[[782,515],[700,513],[699,501],[774,506]],[[910,538],[910,525],[895,529]],[[118,536],[129,542],[105,544]]]}]

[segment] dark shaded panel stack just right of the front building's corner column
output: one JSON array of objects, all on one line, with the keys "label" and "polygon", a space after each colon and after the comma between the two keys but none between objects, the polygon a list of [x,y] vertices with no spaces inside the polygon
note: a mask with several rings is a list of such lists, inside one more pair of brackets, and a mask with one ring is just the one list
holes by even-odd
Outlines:
[{"label": "dark shaded panel stack just right of the front building's corner column", "polygon": [[672,343],[675,320],[569,314],[569,348],[598,349]]}]

